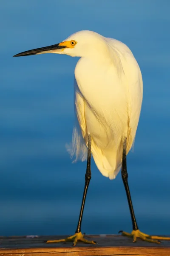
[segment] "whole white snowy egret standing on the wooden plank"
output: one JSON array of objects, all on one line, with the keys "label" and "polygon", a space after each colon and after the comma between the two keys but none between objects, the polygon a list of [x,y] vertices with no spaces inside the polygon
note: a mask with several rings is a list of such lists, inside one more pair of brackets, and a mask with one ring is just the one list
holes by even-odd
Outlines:
[{"label": "whole white snowy egret standing on the wooden plank", "polygon": [[159,243],[164,237],[140,232],[136,222],[127,182],[126,155],[133,145],[142,105],[143,84],[139,65],[130,49],[120,41],[96,32],[79,31],[59,44],[21,52],[14,57],[42,53],[80,57],[75,68],[74,103],[76,125],[71,156],[85,160],[85,188],[76,232],[66,239],[51,242],[88,241],[81,233],[81,223],[88,185],[91,180],[91,154],[102,175],[114,179],[122,166],[122,180],[130,208],[133,231],[125,236]]}]

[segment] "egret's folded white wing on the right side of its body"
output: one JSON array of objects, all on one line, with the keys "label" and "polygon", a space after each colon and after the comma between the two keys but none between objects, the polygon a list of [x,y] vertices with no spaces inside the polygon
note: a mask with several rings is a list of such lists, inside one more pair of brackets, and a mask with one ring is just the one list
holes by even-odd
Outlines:
[{"label": "egret's folded white wing on the right side of its body", "polygon": [[129,124],[127,130],[127,153],[133,145],[136,136],[136,129],[142,106],[143,82],[142,74],[133,53],[122,42],[106,38],[113,51],[116,51],[122,63],[121,68],[125,76],[125,83],[128,93],[128,116]]}]

